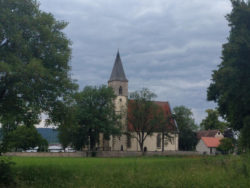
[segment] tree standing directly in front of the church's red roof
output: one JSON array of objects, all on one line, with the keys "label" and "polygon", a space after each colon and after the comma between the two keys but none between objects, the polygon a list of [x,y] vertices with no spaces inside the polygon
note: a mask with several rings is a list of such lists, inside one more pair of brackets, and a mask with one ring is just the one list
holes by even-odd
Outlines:
[{"label": "tree standing directly in front of the church's red roof", "polygon": [[161,109],[152,101],[155,97],[156,95],[147,88],[130,94],[128,124],[131,130],[128,134],[137,140],[141,152],[144,152],[146,138],[166,122]]}]

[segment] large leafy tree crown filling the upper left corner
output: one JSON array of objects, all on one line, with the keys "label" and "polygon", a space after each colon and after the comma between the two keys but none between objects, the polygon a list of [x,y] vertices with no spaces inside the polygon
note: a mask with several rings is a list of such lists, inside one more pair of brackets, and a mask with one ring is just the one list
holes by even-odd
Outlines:
[{"label": "large leafy tree crown filling the upper left corner", "polygon": [[4,130],[33,126],[52,115],[76,88],[68,64],[66,27],[35,0],[0,1],[0,122]]}]

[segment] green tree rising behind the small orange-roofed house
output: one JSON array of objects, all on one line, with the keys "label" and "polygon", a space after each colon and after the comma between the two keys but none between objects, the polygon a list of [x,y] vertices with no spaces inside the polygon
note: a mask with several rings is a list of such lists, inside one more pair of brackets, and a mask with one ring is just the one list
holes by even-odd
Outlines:
[{"label": "green tree rising behind the small orange-roofed house", "polygon": [[207,117],[200,123],[200,128],[203,130],[218,129],[224,131],[229,124],[219,120],[219,112],[213,109],[207,109]]}]

